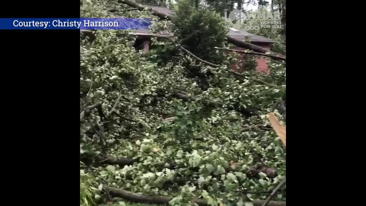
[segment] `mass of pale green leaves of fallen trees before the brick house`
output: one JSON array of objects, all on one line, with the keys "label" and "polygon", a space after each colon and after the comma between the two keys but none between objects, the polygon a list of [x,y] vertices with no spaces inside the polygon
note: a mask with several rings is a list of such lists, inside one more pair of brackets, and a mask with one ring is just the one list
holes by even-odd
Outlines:
[{"label": "mass of pale green leaves of fallen trees before the brick house", "polygon": [[[157,19],[148,11],[126,8],[117,0],[81,0],[82,17],[112,17],[113,9],[120,16]],[[204,12],[208,15],[203,23],[218,20],[213,11]],[[176,43],[183,45],[189,30],[219,33],[220,24],[201,30],[192,21],[194,15],[172,23],[180,23]],[[94,35],[94,41],[86,37],[80,44],[80,111],[101,103],[103,113],[91,110],[81,121],[81,205],[128,205],[106,195],[107,186],[171,196],[171,205],[191,205],[193,198],[201,198],[210,205],[250,206],[268,193],[245,191],[273,190],[284,178],[286,150],[266,119],[273,112],[285,124],[277,103],[285,96],[284,65],[270,62],[270,76],[246,71],[245,77],[235,77],[228,68],[232,55],[221,54],[221,66],[212,67],[175,49],[173,60],[162,62],[159,54],[176,46],[171,40],[154,39],[160,47],[144,54],[135,51],[135,37],[127,31]],[[206,49],[216,37],[195,44]],[[224,44],[217,38],[217,44]],[[109,158],[132,163],[110,164]],[[276,173],[253,173],[263,167]],[[285,201],[285,194],[283,189],[273,200]]]}]

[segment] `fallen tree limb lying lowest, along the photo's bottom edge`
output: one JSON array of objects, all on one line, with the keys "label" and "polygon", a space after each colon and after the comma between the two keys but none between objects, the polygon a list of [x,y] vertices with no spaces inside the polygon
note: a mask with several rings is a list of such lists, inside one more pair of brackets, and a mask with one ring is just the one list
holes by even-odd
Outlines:
[{"label": "fallen tree limb lying lowest, along the photo's bottom edge", "polygon": [[[117,189],[117,188],[113,188],[113,187],[106,187],[106,186],[103,187],[103,190],[113,197],[126,199],[131,202],[168,205],[169,202],[173,199],[172,197],[167,197],[167,196],[141,195],[141,194],[127,191],[127,190]],[[201,199],[193,199],[192,201],[194,203],[197,203],[197,205],[199,205],[199,206],[209,206],[205,201],[203,201]],[[261,206],[263,203],[264,203],[263,200],[254,200],[253,201],[254,206]],[[286,206],[286,202],[269,201],[267,206]]]}]

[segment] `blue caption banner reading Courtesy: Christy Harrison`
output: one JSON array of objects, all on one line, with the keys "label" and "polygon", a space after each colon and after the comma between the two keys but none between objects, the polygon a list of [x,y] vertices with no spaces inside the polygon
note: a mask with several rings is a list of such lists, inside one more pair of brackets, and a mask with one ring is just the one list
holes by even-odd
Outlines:
[{"label": "blue caption banner reading Courtesy: Christy Harrison", "polygon": [[0,29],[137,30],[152,19],[137,18],[0,18]]}]

